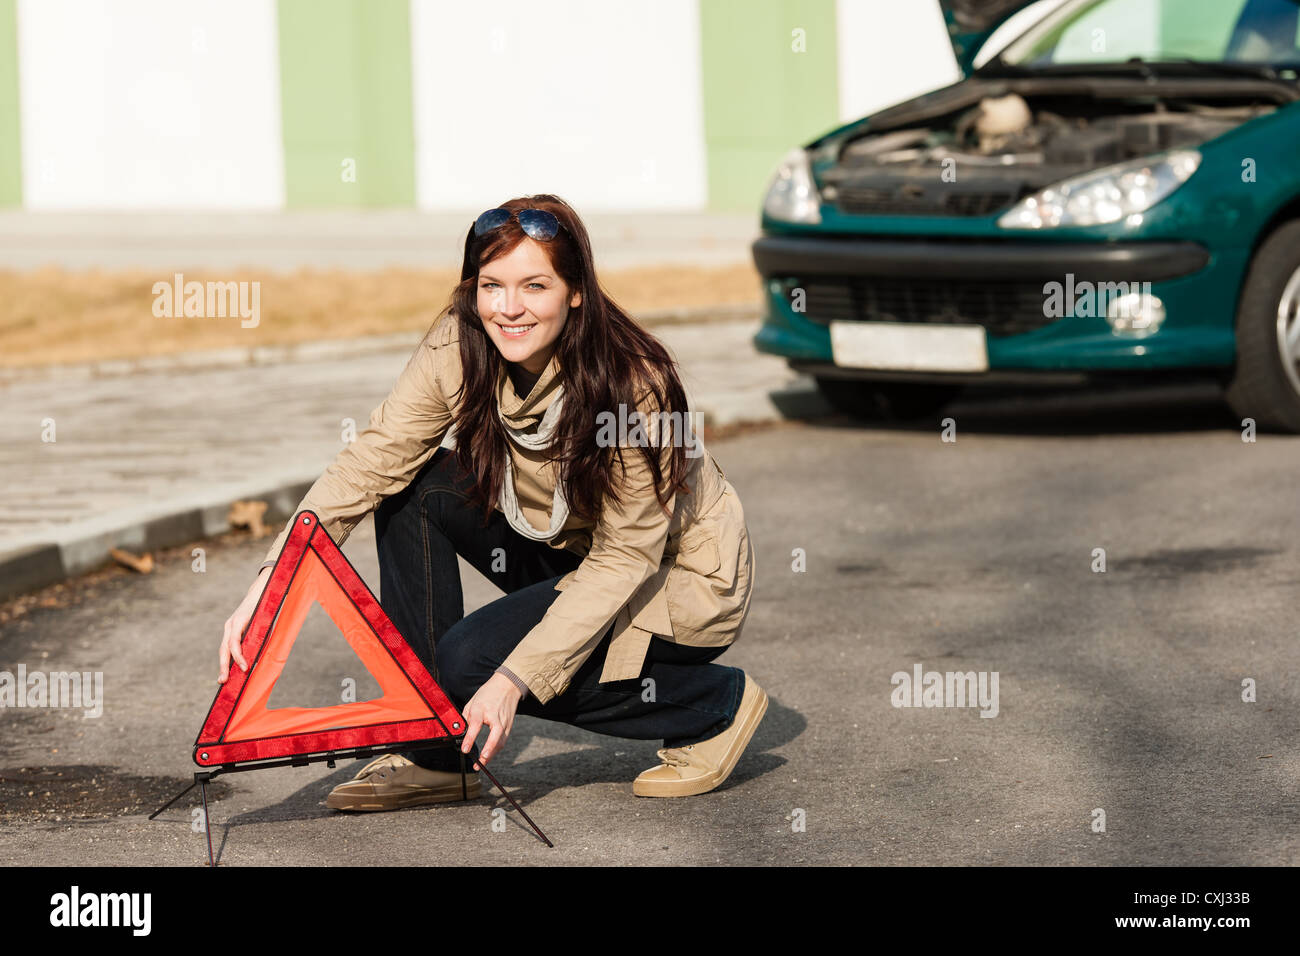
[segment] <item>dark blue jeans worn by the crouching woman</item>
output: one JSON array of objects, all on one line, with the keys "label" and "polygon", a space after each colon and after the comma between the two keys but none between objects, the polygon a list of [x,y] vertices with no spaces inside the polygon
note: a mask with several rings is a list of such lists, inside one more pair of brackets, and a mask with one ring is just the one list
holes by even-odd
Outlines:
[{"label": "dark blue jeans worn by the crouching woman", "polygon": [[[472,486],[455,454],[438,449],[411,484],[374,512],[380,604],[460,710],[559,597],[555,581],[582,562],[572,551],[524,537],[497,509],[482,527],[482,512],[468,501]],[[465,617],[458,554],[504,597]],[[725,645],[699,648],[654,636],[640,676],[602,684],[612,631],[564,693],[546,704],[529,693],[517,713],[616,737],[663,740],[664,747],[707,740],[731,726],[745,675],[738,667],[708,663]],[[653,701],[642,700],[645,678],[654,679]],[[406,756],[432,770],[460,770],[451,748]],[[474,747],[467,761],[477,756]]]}]

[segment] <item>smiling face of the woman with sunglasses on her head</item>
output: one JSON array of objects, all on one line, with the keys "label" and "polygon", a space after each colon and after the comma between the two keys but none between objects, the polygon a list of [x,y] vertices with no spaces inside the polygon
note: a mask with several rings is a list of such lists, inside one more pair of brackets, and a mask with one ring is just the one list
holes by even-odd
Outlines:
[{"label": "smiling face of the woman with sunglasses on her head", "polygon": [[546,369],[569,308],[580,304],[581,290],[569,295],[533,239],[478,268],[478,316],[488,337],[507,362],[532,375]]}]

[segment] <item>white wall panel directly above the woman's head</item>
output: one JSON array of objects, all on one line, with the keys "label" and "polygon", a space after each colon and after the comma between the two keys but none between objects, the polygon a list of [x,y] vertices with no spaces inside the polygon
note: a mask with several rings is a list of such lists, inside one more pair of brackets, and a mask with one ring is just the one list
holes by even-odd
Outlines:
[{"label": "white wall panel directly above the woman's head", "polygon": [[411,43],[420,207],[705,206],[696,0],[412,0]]}]

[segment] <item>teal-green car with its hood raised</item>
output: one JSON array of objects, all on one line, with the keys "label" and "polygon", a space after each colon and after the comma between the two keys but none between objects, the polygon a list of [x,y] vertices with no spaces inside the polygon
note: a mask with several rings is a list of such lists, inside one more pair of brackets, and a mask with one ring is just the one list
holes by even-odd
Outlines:
[{"label": "teal-green car with its hood raised", "polygon": [[764,352],[863,418],[1212,376],[1300,432],[1300,0],[941,0],[962,81],[781,163]]}]

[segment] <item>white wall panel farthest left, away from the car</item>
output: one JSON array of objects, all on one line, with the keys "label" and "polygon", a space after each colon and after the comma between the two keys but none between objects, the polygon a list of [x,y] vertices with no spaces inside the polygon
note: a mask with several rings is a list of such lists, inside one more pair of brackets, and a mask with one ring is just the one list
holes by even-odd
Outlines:
[{"label": "white wall panel farthest left, away from the car", "polygon": [[29,208],[283,204],[274,0],[20,0]]}]

